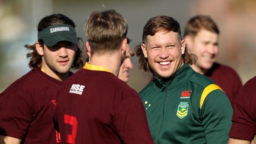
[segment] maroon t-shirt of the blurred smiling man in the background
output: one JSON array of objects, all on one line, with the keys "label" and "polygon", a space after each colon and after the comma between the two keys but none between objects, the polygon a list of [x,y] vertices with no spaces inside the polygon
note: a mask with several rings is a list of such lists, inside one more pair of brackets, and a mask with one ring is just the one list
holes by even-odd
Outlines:
[{"label": "maroon t-shirt of the blurred smiling man in the background", "polygon": [[235,70],[229,66],[213,63],[213,66],[205,74],[213,80],[226,93],[233,107],[236,96],[242,87],[242,82]]}]

